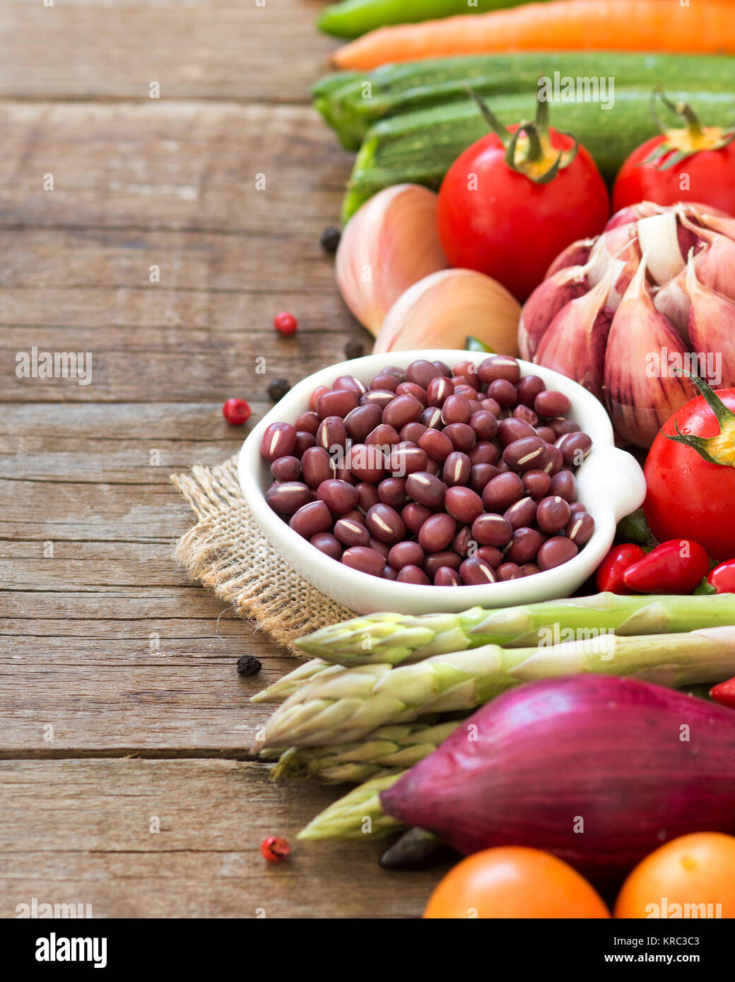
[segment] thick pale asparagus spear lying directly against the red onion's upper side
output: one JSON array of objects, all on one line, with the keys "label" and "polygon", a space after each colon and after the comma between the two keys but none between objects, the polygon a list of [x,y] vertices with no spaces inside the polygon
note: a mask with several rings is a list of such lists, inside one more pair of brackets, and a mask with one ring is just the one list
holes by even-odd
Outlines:
[{"label": "thick pale asparagus spear lying directly against the red onion's upper side", "polygon": [[[708,597],[713,600],[713,597]],[[735,674],[735,627],[644,637],[600,635],[537,648],[488,644],[414,665],[359,665],[318,677],[265,724],[261,747],[330,745],[424,713],[470,710],[520,682],[594,672],[636,676],[673,688]]]}]

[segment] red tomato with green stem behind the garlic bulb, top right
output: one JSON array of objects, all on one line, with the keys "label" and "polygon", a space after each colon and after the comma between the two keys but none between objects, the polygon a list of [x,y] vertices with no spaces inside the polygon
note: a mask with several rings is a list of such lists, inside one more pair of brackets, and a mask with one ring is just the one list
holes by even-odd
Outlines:
[{"label": "red tomato with green stem behind the garlic bulb, top right", "polygon": [[[615,180],[612,210],[619,211],[639,201],[699,201],[735,214],[732,137],[719,127],[702,126],[690,106],[675,105],[662,93],[661,98],[681,118],[683,127],[653,136],[633,151]],[[686,156],[675,161],[677,153]],[[646,163],[651,155],[654,159]]]}]

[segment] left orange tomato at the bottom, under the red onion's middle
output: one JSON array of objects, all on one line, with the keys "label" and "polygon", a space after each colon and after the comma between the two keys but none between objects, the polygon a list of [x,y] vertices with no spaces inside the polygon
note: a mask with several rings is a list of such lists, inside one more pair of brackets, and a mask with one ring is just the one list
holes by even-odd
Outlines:
[{"label": "left orange tomato at the bottom, under the red onion's middle", "polygon": [[609,917],[594,890],[567,863],[525,846],[484,849],[439,883],[424,917]]}]

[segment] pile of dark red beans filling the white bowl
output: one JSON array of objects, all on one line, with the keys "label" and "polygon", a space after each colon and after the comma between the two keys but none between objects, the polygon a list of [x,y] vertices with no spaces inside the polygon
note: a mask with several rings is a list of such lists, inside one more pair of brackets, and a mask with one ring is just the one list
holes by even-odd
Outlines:
[{"label": "pile of dark red beans filling the white bowl", "polygon": [[493,583],[568,562],[594,532],[576,467],[592,440],[515,358],[417,360],[318,386],[260,447],[268,505],[326,556],[374,576]]}]

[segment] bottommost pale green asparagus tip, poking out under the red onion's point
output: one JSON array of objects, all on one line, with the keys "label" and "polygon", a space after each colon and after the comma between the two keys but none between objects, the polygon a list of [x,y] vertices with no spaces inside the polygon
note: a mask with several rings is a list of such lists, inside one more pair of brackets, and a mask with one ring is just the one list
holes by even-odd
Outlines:
[{"label": "bottommost pale green asparagus tip, poking out under the red onion's point", "polygon": [[405,774],[388,774],[364,785],[330,804],[309,825],[298,839],[382,839],[403,828],[396,818],[385,815],[380,807],[380,791],[385,791]]}]

